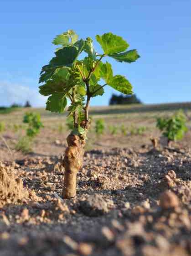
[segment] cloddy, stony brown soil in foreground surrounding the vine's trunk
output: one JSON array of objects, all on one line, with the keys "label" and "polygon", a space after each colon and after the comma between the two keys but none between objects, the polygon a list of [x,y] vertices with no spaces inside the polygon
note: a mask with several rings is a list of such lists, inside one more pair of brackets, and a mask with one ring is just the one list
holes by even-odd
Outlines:
[{"label": "cloddy, stony brown soil in foreground surrounding the vine's trunk", "polygon": [[1,162],[0,256],[191,255],[188,147],[88,151],[65,200],[60,159]]}]

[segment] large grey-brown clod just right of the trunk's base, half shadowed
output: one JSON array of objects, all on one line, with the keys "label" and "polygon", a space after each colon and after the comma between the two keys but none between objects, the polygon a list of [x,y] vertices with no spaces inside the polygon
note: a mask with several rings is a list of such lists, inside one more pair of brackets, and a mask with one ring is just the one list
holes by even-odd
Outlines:
[{"label": "large grey-brown clod just right of the trunk's base, half shadowed", "polygon": [[80,210],[87,216],[99,216],[108,213],[108,205],[101,195],[95,194],[80,201]]}]

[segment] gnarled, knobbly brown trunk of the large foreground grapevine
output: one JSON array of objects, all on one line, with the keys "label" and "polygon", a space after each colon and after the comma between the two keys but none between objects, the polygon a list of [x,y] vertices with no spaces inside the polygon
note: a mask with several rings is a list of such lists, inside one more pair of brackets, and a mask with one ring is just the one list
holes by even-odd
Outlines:
[{"label": "gnarled, knobbly brown trunk of the large foreground grapevine", "polygon": [[65,151],[63,166],[65,169],[63,198],[76,196],[77,172],[83,166],[84,140],[78,135],[70,134],[67,137],[68,147]]}]

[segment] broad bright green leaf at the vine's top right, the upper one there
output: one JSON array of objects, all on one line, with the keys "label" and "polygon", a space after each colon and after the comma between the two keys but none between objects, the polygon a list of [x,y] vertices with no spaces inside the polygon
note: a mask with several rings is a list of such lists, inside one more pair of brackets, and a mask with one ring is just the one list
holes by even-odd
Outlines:
[{"label": "broad bright green leaf at the vine's top right, the upper one there", "polygon": [[129,47],[129,44],[122,37],[116,36],[111,32],[102,36],[97,35],[96,40],[106,55],[124,52]]}]

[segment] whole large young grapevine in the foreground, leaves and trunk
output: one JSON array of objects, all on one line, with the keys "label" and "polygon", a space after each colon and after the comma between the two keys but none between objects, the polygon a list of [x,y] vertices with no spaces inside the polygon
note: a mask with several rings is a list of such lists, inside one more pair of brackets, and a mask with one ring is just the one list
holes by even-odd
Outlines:
[{"label": "whole large young grapevine in the foreground, leaves and trunk", "polygon": [[[127,51],[129,44],[113,33],[96,36],[102,48],[98,53],[93,40],[78,39],[77,34],[67,30],[54,38],[53,44],[59,47],[49,64],[42,67],[39,92],[49,96],[46,110],[63,112],[68,101],[68,116],[73,117],[73,130],[67,137],[68,147],[65,152],[63,165],[65,180],[63,197],[76,196],[77,171],[83,165],[83,147],[86,134],[90,127],[90,100],[104,94],[105,86],[111,86],[124,94],[132,94],[132,85],[123,75],[114,75],[111,64],[105,57],[118,62],[132,63],[139,58],[136,49]],[[108,58],[107,58],[108,59]]]}]

